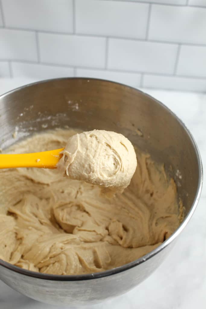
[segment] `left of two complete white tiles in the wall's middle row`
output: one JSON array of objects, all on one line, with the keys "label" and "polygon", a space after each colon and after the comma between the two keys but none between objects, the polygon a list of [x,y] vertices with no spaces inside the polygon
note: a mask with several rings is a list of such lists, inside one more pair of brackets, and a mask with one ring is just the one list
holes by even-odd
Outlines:
[{"label": "left of two complete white tiles in the wall's middle row", "polygon": [[42,62],[96,68],[105,65],[105,38],[39,33],[39,46]]}]

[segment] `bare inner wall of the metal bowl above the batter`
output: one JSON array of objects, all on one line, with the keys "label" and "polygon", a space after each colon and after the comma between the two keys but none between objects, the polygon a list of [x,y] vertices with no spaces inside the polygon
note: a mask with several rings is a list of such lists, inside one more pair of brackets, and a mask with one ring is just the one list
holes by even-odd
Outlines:
[{"label": "bare inner wall of the metal bowl above the batter", "polygon": [[54,79],[1,96],[0,115],[2,149],[32,133],[57,127],[122,133],[154,160],[164,162],[186,214],[191,209],[200,178],[194,142],[168,108],[141,91],[97,79]]}]

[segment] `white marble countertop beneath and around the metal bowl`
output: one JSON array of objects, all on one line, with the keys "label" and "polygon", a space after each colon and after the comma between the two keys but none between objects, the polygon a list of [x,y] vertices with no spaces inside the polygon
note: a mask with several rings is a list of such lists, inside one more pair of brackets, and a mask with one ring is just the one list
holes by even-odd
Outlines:
[{"label": "white marble countertop beneath and around the metal bowl", "polygon": [[[29,79],[0,79],[0,94],[31,83]],[[146,89],[181,118],[193,134],[206,167],[206,94]],[[206,185],[191,221],[162,265],[127,294],[92,309],[198,309],[206,308]],[[61,309],[39,303],[0,281],[1,309]],[[72,308],[72,307],[67,307]]]}]

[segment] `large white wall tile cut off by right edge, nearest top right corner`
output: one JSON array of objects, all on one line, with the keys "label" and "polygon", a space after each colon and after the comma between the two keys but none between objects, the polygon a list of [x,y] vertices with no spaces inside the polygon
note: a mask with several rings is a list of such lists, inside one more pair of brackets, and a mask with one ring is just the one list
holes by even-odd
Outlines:
[{"label": "large white wall tile cut off by right edge, nearest top right corner", "polygon": [[153,5],[149,39],[206,44],[206,9]]}]

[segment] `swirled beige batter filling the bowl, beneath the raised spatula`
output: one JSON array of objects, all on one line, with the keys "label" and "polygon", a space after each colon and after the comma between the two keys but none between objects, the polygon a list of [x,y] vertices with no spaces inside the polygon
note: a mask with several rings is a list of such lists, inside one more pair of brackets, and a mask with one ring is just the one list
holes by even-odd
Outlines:
[{"label": "swirled beige batter filling the bowl, beneath the raised spatula", "polygon": [[[10,151],[64,147],[75,133],[38,134]],[[174,180],[139,151],[131,183],[113,198],[58,170],[2,170],[0,187],[0,258],[42,273],[94,273],[124,265],[156,248],[180,223]]]}]

